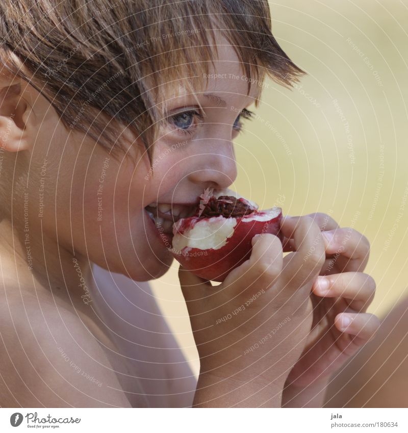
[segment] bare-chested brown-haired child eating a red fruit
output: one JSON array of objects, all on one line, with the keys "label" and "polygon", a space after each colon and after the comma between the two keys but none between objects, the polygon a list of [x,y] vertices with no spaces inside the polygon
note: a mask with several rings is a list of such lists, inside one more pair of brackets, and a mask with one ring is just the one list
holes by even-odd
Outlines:
[{"label": "bare-chested brown-haired child eating a red fruit", "polygon": [[257,83],[301,71],[266,2],[162,3],[0,7],[3,406],[320,405],[329,374],[378,326],[365,313],[367,240],[327,216],[285,218],[285,258],[265,235],[217,288],[181,270],[196,387],[136,282],[172,261],[157,226],[171,239],[204,189],[233,183],[232,140]]}]

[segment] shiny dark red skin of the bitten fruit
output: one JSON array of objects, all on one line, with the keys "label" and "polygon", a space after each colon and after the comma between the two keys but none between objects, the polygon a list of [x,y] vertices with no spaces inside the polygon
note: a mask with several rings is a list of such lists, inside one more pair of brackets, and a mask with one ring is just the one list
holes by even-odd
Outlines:
[{"label": "shiny dark red skin of the bitten fruit", "polygon": [[[269,211],[271,210],[257,211],[251,215],[262,216]],[[255,235],[270,233],[278,236],[282,241],[280,232],[282,209],[274,208],[273,211],[275,213],[278,211],[278,214],[264,221],[243,221],[251,215],[236,218],[237,224],[234,227],[234,234],[227,239],[226,244],[221,248],[185,247],[178,253],[173,252],[173,256],[184,268],[195,275],[208,281],[223,282],[228,273],[249,259],[252,250],[251,240]],[[190,221],[194,219],[197,218],[190,217],[181,220],[177,231],[183,233]]]}]

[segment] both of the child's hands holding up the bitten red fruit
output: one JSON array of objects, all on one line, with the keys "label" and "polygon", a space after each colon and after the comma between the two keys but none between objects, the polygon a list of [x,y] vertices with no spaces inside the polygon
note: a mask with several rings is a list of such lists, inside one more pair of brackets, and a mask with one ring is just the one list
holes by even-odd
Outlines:
[{"label": "both of the child's hands holding up the bitten red fruit", "polygon": [[[359,272],[368,260],[367,239],[350,228],[340,228],[324,214],[286,217],[281,228],[285,235],[284,250],[295,252],[282,261],[280,242],[276,242],[272,235],[265,236],[253,246],[249,262],[231,272],[224,283],[217,286],[215,293],[215,288],[191,273],[188,278],[183,276],[184,271],[180,274],[201,359],[201,381],[198,381],[194,401],[197,406],[320,407],[330,375],[370,340],[379,326],[374,315],[365,313],[373,298],[375,284],[371,277]],[[323,236],[320,244],[317,240],[321,231],[328,236]],[[330,236],[332,234],[334,236]],[[313,252],[311,246],[315,247]],[[308,257],[306,262],[304,257]],[[337,258],[335,265],[331,264],[334,257]],[[264,276],[260,282],[259,275]],[[323,275],[327,275],[329,280],[328,290],[324,292],[319,287]],[[237,295],[238,299],[225,294],[232,290],[230,287],[234,286],[236,278],[245,281],[241,286],[243,293]],[[305,283],[304,286],[301,286],[302,283]],[[191,285],[200,287],[201,292],[197,291],[197,287],[194,291],[188,290]],[[296,288],[294,292],[293,288]],[[260,289],[266,294],[251,303],[250,311],[232,316],[224,325],[226,329],[210,327]],[[209,296],[209,293],[214,295]],[[230,298],[234,301],[228,302]],[[189,304],[192,306],[189,307]],[[265,304],[270,310],[265,311]],[[250,356],[241,356],[231,362],[231,352],[226,354],[226,350],[222,350],[232,346],[236,354],[245,353],[248,347],[270,332],[268,319],[273,317],[275,324],[284,323],[288,313],[292,317],[290,326],[285,324],[273,335],[273,339],[251,351]],[[342,322],[345,316],[352,318],[347,327]],[[207,326],[206,320],[209,320]],[[257,323],[258,327],[252,327],[256,330],[250,333],[245,327],[242,334],[240,325],[248,326],[251,321]],[[259,327],[260,323],[262,327]],[[214,328],[218,332],[214,332]],[[305,329],[308,329],[307,335],[304,334]],[[235,338],[234,334],[238,336]],[[264,355],[272,351],[275,343],[279,347],[274,352],[281,356],[278,359],[282,364],[271,363],[270,360],[265,364]],[[291,359],[292,354],[294,359]],[[243,362],[248,364],[243,365]],[[234,365],[237,365],[236,372],[232,368]],[[249,366],[256,366],[249,370],[252,376],[248,373]],[[268,372],[266,377],[265,371]],[[263,386],[256,389],[254,383],[259,376]],[[265,389],[266,384],[270,389]],[[222,398],[211,398],[211,386],[220,387]]]}]

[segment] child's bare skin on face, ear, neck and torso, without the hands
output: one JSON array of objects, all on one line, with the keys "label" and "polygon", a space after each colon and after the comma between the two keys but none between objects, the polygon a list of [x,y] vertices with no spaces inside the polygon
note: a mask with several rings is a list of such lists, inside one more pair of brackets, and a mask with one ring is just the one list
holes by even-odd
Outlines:
[{"label": "child's bare skin on face, ear, neck and torso, without the hands", "polygon": [[[224,72],[239,73],[231,48],[225,53],[221,49],[220,55],[224,56],[219,62]],[[231,61],[235,69],[231,69]],[[234,181],[237,171],[232,139],[237,135],[233,128],[237,111],[221,108],[213,98],[199,95],[208,116],[206,124],[197,126],[194,140],[168,124],[155,143],[153,176],[149,176],[143,146],[122,128],[120,140],[128,146],[127,155],[109,160],[103,184],[103,217],[97,221],[96,192],[107,150],[67,130],[41,94],[13,80],[4,70],[0,86],[4,150],[0,222],[2,405],[191,405],[196,380],[149,289],[129,279],[108,282],[104,290],[111,295],[110,303],[122,297],[114,314],[111,305],[108,308],[105,299],[98,297],[101,282],[94,281],[97,275],[91,265],[135,281],[166,272],[173,258],[144,207],[152,202],[190,205],[205,188],[222,189]],[[214,80],[206,90],[227,91],[228,106],[239,107],[238,112],[250,105],[258,92],[252,89],[248,96],[244,82],[237,88],[235,82],[233,87],[232,82]],[[194,96],[180,94],[168,101],[168,112],[196,106]],[[187,144],[177,146],[181,142]],[[48,163],[43,176],[45,158]],[[42,177],[45,206],[42,218],[38,218]],[[5,185],[7,179],[14,180],[14,185]],[[24,244],[25,191],[29,194],[32,269]],[[85,282],[80,288],[77,269]],[[82,297],[84,288],[92,301]],[[125,290],[126,297],[119,296]],[[118,296],[112,297],[112,292]],[[126,321],[115,320],[117,315],[124,317],[130,305],[137,306],[137,314],[134,309]],[[146,328],[149,332],[143,331]],[[16,341],[21,344],[16,345]],[[97,378],[101,388],[78,374],[59,347],[82,372]],[[142,391],[138,377],[147,378],[141,380]],[[155,377],[158,380],[152,380]]]}]

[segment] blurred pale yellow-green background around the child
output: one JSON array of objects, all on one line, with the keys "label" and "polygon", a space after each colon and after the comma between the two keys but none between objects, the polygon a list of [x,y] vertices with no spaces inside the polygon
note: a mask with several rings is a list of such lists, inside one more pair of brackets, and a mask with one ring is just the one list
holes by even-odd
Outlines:
[{"label": "blurred pale yellow-green background around the child", "polygon": [[[307,75],[292,90],[265,83],[236,140],[233,188],[261,208],[324,212],[367,236],[369,312],[383,316],[408,294],[408,1],[270,6],[274,36]],[[151,284],[197,373],[177,268]]]}]

